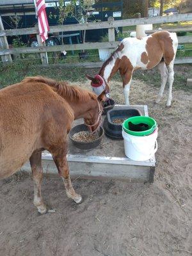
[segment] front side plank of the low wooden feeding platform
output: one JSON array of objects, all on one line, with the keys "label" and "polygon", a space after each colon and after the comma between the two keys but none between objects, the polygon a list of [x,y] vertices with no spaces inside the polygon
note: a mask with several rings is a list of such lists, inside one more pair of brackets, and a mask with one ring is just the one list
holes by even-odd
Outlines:
[{"label": "front side plank of the low wooden feeding platform", "polygon": [[[58,174],[54,161],[42,159],[44,171]],[[68,161],[70,176],[81,179],[115,179],[129,182],[147,182],[150,180],[150,166],[132,166],[125,164],[86,163]],[[77,168],[78,166],[78,168]],[[24,164],[22,171],[31,171],[29,163]]]}]

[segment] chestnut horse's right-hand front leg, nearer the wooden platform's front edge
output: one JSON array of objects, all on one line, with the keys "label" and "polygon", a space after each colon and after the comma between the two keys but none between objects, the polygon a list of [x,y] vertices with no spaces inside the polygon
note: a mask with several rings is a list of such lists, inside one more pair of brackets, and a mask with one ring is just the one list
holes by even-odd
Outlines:
[{"label": "chestnut horse's right-hand front leg, nearer the wooden platform's front edge", "polygon": [[60,150],[54,150],[51,152],[54,162],[58,168],[58,172],[61,176],[61,179],[64,182],[66,193],[68,198],[72,198],[77,204],[81,204],[82,197],[78,195],[72,186],[72,182],[70,180],[69,170],[68,170],[68,163],[67,163],[67,143],[63,148]]}]

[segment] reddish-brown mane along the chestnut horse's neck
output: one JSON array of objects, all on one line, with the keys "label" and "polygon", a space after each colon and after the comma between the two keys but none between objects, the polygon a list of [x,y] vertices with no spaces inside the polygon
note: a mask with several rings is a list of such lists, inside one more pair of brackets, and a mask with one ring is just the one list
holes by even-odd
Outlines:
[{"label": "reddish-brown mane along the chestnut horse's neck", "polygon": [[34,76],[34,77],[26,77],[22,80],[22,83],[29,82],[37,82],[44,83],[53,88],[61,97],[77,102],[86,101],[91,99],[97,99],[97,95],[88,90],[84,90],[79,86],[72,86],[67,81],[55,81],[54,79],[42,77],[42,76]]}]

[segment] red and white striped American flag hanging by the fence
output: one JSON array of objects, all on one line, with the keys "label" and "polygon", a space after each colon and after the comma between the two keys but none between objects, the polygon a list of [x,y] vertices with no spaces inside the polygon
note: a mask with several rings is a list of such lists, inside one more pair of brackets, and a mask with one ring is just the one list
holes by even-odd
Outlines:
[{"label": "red and white striped American flag hanging by the fence", "polygon": [[38,30],[39,35],[44,42],[48,38],[49,24],[47,20],[47,14],[45,12],[45,0],[34,0],[36,14],[38,16]]}]

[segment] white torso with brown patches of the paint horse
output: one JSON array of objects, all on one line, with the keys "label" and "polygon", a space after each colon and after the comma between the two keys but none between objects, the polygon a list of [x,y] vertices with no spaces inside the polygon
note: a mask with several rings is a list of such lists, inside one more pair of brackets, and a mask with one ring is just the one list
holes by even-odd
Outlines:
[{"label": "white torso with brown patches of the paint horse", "polygon": [[177,51],[177,35],[168,31],[157,31],[143,38],[124,38],[120,58],[127,56],[133,68],[154,68],[164,57],[166,64],[174,59]]}]

